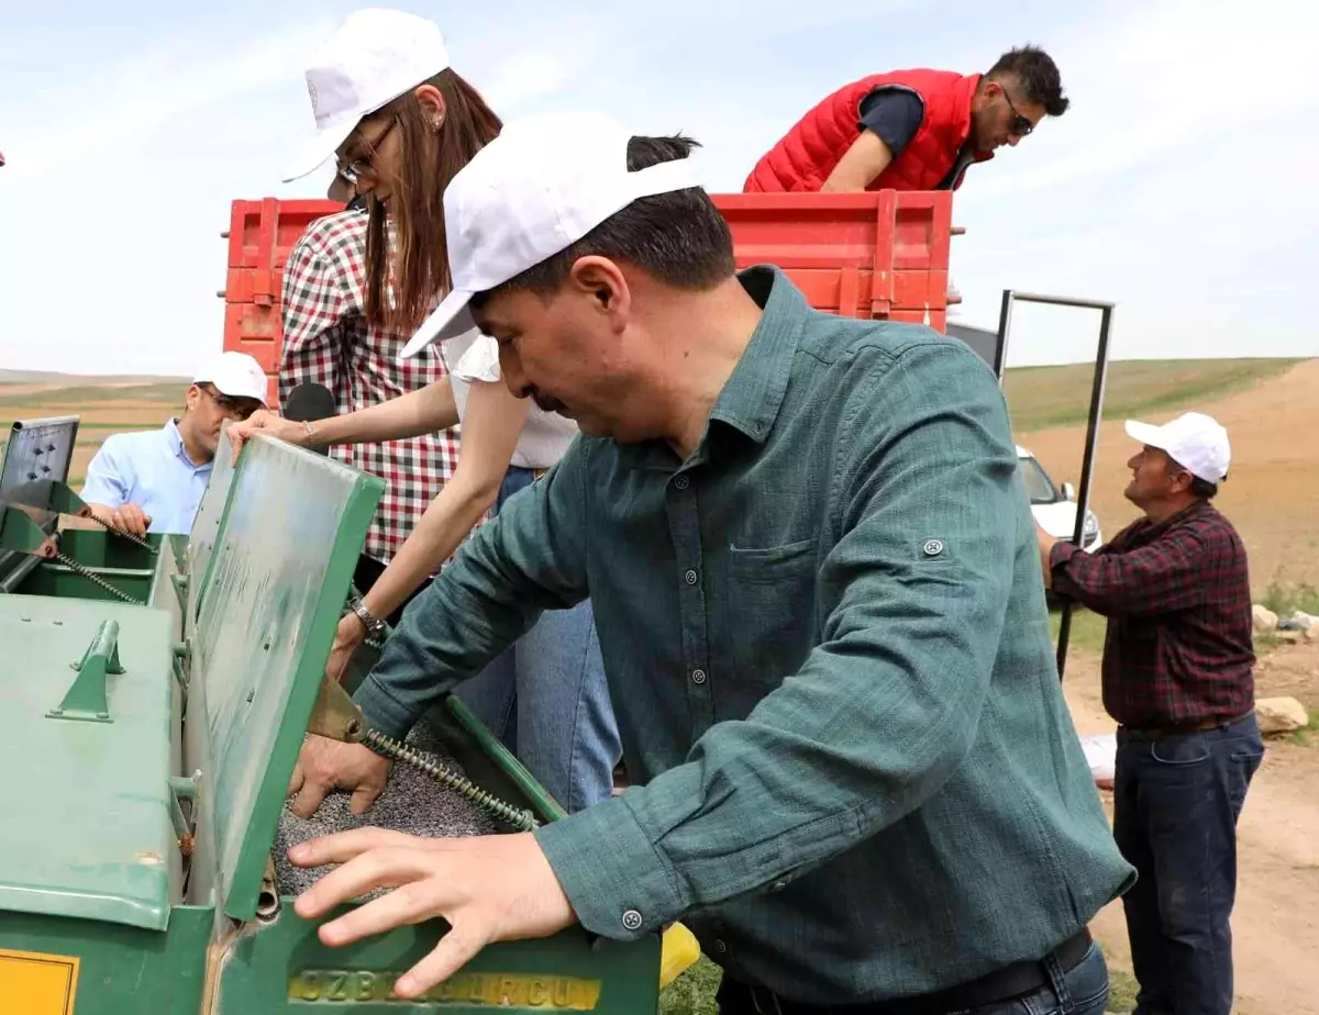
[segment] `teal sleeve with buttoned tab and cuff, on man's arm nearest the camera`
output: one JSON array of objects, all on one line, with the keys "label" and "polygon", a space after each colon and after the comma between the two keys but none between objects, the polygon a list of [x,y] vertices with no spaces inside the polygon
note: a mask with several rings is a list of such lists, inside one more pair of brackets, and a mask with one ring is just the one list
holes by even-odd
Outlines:
[{"label": "teal sleeve with buttoned tab and cuff, on man's arm nearest the camera", "polygon": [[595,933],[790,881],[919,808],[971,749],[1034,540],[1006,407],[952,343],[865,351],[849,380],[819,645],[686,763],[536,833]]}]

